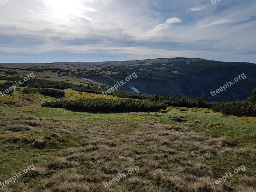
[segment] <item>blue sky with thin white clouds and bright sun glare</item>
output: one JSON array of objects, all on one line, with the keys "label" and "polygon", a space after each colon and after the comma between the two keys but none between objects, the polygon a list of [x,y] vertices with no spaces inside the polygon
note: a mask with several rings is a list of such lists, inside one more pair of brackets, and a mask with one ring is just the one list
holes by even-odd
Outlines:
[{"label": "blue sky with thin white clouds and bright sun glare", "polygon": [[0,62],[256,63],[255,0],[0,0]]}]

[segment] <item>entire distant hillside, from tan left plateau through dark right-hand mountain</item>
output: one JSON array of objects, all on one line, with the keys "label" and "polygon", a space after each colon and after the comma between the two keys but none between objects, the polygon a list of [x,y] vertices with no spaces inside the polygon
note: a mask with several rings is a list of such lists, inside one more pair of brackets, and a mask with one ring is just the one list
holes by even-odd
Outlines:
[{"label": "entire distant hillside, from tan left plateau through dark right-hand mountain", "polygon": [[[97,67],[96,67],[97,66]],[[247,99],[256,87],[256,64],[243,62],[220,62],[197,58],[164,58],[111,62],[67,62],[50,64],[2,64],[0,76],[26,75],[33,71],[40,79],[50,76],[54,81],[83,83],[82,78],[93,83],[114,86],[133,73],[137,78],[119,87],[123,91],[158,95],[205,95],[208,101],[234,101]],[[16,74],[15,74],[16,73]],[[226,82],[244,74],[244,79],[235,82],[226,91],[216,96],[216,91]],[[0,80],[5,80],[0,78]],[[85,81],[88,83],[87,81]],[[103,85],[104,86],[104,85]]]}]

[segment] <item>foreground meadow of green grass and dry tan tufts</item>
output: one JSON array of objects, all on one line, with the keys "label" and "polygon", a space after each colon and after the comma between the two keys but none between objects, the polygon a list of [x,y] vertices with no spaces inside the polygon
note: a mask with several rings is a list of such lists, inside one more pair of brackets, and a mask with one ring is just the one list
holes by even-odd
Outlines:
[{"label": "foreground meadow of green grass and dry tan tufts", "polygon": [[[66,90],[67,98],[73,94],[94,95]],[[91,114],[38,104],[2,107],[0,182],[29,165],[35,170],[0,191],[255,191],[255,117],[223,116],[202,108],[167,110]],[[235,174],[243,165],[246,170]],[[103,185],[135,166],[140,171]],[[229,172],[232,177],[211,187],[210,182]]]}]

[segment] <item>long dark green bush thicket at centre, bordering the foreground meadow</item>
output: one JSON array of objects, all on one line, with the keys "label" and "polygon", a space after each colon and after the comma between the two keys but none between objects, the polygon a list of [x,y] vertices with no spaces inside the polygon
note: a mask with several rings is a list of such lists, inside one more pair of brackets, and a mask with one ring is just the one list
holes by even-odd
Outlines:
[{"label": "long dark green bush thicket at centre, bordering the foreground meadow", "polygon": [[155,112],[166,109],[167,105],[147,100],[111,100],[111,99],[79,99],[51,101],[41,104],[42,107],[65,108],[71,111],[89,113],[126,113],[126,112]]}]

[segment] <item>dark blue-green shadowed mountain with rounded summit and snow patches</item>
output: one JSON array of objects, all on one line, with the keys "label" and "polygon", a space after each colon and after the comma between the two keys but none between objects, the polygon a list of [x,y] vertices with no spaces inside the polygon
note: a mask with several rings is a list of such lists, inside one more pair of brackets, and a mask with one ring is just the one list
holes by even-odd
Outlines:
[{"label": "dark blue-green shadowed mountain with rounded summit and snow patches", "polygon": [[[114,85],[132,73],[138,78],[123,85],[120,89],[131,91],[136,87],[140,93],[159,95],[205,95],[209,101],[243,100],[250,96],[256,87],[256,65],[242,62],[220,62],[197,58],[165,58],[136,61],[111,61],[111,62],[72,62],[66,64],[111,66],[102,67],[103,70],[116,72],[110,74],[111,78],[91,75],[90,78],[97,82]],[[117,66],[119,65],[119,66]],[[246,78],[239,80],[227,91],[216,96],[211,91],[219,89],[226,82],[234,82],[234,78],[244,74]],[[232,83],[231,82],[231,83]]]}]

